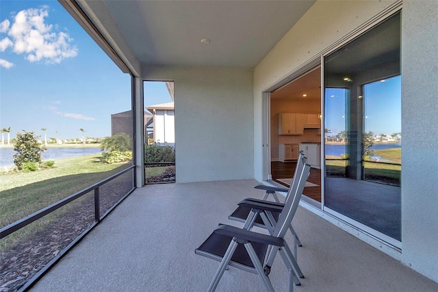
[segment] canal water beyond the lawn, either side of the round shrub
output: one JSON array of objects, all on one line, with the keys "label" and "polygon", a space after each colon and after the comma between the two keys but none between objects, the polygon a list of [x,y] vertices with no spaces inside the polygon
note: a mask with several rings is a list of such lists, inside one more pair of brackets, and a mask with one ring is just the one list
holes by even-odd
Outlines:
[{"label": "canal water beyond the lawn, either side of the round shrub", "polygon": [[[14,165],[14,155],[16,151],[12,148],[0,148],[0,167]],[[100,154],[100,148],[47,148],[42,152],[42,160],[55,160],[61,158],[70,158],[90,154]]]}]

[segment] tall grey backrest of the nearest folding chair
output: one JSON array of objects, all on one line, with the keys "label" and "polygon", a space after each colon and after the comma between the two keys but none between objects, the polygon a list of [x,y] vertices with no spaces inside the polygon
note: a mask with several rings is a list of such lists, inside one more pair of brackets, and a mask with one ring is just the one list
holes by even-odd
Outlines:
[{"label": "tall grey backrest of the nearest folding chair", "polygon": [[283,211],[279,216],[279,220],[274,228],[272,235],[284,238],[287,228],[289,228],[292,219],[294,218],[298,204],[300,203],[302,191],[306,184],[307,178],[309,178],[310,165],[307,165],[307,158],[300,156],[297,160],[297,167],[294,174],[294,180],[292,180],[289,191],[287,191],[287,198]]}]

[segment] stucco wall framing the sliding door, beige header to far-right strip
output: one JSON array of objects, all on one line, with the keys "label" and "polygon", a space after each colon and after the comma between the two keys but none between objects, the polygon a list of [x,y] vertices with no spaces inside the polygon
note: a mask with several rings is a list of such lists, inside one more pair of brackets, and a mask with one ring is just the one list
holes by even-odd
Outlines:
[{"label": "stucco wall framing the sliding door, beige header to far-right strip", "polygon": [[[318,1],[255,68],[257,180],[262,179],[261,92],[320,56],[393,3],[396,1]],[[438,282],[437,15],[437,1],[403,3],[402,252],[391,251],[369,236],[355,232],[359,238],[435,282]],[[339,221],[333,222],[342,225]]]}]

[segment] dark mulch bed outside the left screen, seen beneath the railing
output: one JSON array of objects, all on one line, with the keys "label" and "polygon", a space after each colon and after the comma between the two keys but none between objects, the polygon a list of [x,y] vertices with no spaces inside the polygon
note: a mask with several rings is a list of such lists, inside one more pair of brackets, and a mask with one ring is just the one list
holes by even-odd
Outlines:
[{"label": "dark mulch bed outside the left screen, seen beneath the railing", "polygon": [[[121,179],[101,186],[101,215],[131,188],[131,181]],[[7,252],[1,252],[0,292],[20,289],[93,221],[94,197],[79,202],[31,239],[23,240]]]}]

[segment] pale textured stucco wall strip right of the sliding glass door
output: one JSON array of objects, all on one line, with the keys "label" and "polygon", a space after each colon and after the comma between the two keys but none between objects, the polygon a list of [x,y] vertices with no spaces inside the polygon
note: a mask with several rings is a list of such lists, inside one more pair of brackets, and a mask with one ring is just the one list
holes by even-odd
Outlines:
[{"label": "pale textured stucco wall strip right of the sliding glass door", "polygon": [[403,2],[402,260],[435,282],[438,282],[437,15],[437,1]]}]

